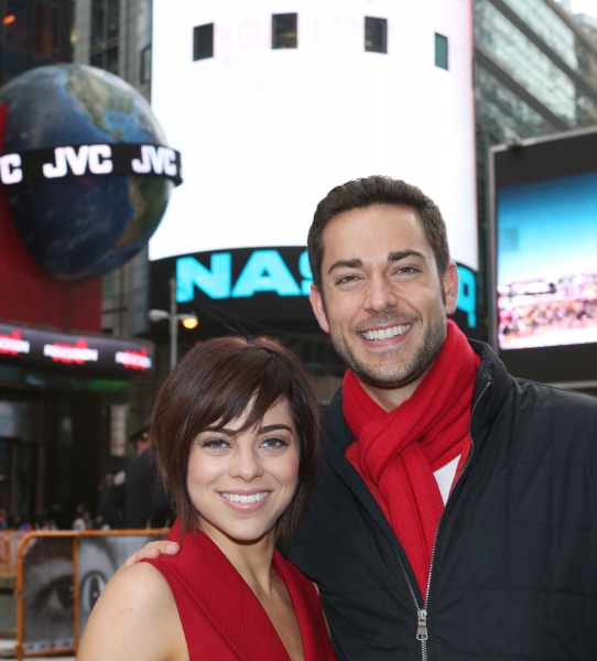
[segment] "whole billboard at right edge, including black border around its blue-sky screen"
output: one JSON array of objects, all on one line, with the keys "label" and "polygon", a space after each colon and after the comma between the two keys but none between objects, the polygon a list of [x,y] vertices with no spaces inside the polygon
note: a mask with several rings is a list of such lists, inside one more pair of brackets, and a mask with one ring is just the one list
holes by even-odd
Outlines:
[{"label": "whole billboard at right edge, including black border around its blue-sky screen", "polygon": [[596,153],[595,130],[493,150],[498,344],[529,366],[565,348],[546,380],[597,358]]}]

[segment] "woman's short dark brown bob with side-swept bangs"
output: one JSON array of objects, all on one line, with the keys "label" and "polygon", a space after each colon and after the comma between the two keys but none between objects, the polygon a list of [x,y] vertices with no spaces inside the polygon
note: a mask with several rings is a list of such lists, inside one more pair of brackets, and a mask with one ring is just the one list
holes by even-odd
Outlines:
[{"label": "woman's short dark brown bob with side-swept bangs", "polygon": [[319,458],[319,408],[306,369],[275,340],[219,337],[191,349],[171,372],[158,394],[150,440],[183,533],[197,525],[186,486],[197,435],[226,426],[249,402],[239,431],[251,430],[281,400],[292,412],[300,453],[296,490],[276,524],[276,541],[287,545],[306,511]]}]

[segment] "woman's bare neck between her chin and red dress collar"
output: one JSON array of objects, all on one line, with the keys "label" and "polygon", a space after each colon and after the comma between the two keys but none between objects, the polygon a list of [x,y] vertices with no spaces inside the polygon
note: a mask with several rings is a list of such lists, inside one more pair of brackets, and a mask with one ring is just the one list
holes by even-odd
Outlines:
[{"label": "woman's bare neck between her chin and red dress collar", "polygon": [[234,540],[203,519],[199,521],[199,530],[226,555],[253,593],[258,596],[271,593],[275,529],[250,542]]}]

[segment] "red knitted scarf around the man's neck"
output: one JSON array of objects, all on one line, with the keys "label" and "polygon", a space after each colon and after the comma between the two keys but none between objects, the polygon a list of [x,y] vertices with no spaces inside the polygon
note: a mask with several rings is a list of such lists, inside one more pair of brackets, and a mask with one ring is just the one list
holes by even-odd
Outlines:
[{"label": "red knitted scarf around the man's neck", "polygon": [[358,451],[350,452],[352,445],[347,456],[366,483],[376,487],[373,495],[389,514],[423,596],[444,511],[433,474],[458,455],[455,481],[463,469],[470,447],[468,424],[479,364],[464,334],[448,322],[446,340],[432,368],[412,397],[392,412],[373,402],[352,370],[344,378],[343,412]]}]

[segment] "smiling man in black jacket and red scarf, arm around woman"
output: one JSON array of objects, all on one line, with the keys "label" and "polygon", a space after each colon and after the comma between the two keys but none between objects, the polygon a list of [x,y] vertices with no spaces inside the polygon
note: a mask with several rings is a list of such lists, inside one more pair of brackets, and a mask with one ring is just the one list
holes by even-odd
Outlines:
[{"label": "smiling man in black jacket and red scarf, arm around woman", "polygon": [[597,400],[513,379],[447,322],[456,267],[417,188],[334,188],[308,251],[350,369],[289,556],[338,659],[597,659]]}]

